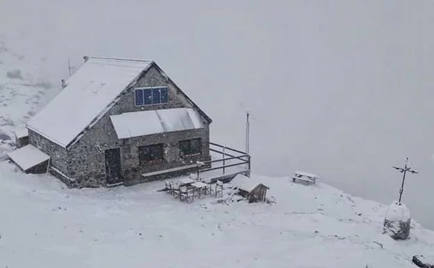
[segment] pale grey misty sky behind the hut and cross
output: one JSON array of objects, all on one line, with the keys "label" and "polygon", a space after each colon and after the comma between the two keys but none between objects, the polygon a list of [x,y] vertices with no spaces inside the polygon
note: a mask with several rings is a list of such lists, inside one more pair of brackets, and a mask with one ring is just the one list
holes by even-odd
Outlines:
[{"label": "pale grey misty sky behind the hut and cross", "polygon": [[249,110],[254,173],[388,204],[409,156],[403,201],[431,228],[433,25],[428,0],[0,1],[0,40],[58,85],[67,57],[152,58],[239,148]]}]

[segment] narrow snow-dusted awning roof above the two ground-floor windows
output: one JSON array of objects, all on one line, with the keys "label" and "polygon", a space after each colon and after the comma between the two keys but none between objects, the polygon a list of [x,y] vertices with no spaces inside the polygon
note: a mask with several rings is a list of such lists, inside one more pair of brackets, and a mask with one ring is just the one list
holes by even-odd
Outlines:
[{"label": "narrow snow-dusted awning roof above the two ground-floor windows", "polygon": [[134,111],[110,119],[118,139],[203,127],[198,112],[191,108]]}]

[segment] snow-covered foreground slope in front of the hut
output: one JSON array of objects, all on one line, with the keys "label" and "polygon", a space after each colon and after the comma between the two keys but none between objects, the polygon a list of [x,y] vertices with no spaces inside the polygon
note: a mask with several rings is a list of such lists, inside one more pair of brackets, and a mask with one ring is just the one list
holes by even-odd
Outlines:
[{"label": "snow-covered foreground slope in front of the hut", "polygon": [[185,204],[161,182],[79,190],[0,171],[0,267],[414,267],[434,248],[417,223],[408,241],[381,235],[387,207],[325,184],[257,178],[277,203]]}]

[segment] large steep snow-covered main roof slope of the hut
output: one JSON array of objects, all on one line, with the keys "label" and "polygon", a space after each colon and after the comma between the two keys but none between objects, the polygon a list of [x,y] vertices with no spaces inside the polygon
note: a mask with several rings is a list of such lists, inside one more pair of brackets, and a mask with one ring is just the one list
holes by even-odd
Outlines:
[{"label": "large steep snow-covered main roof slope of the hut", "polygon": [[152,61],[88,58],[66,87],[27,127],[66,147],[127,88]]}]

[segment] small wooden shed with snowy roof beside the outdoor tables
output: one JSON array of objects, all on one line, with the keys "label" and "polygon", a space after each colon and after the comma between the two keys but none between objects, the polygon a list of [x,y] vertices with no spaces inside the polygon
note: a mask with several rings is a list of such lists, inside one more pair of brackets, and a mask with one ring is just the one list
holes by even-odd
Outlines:
[{"label": "small wooden shed with snowy roof beside the outdoor tables", "polygon": [[266,191],[270,189],[262,182],[242,174],[236,175],[230,183],[239,189],[240,196],[247,198],[249,203],[265,202]]}]

